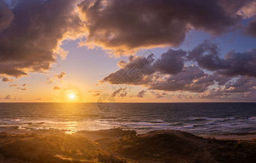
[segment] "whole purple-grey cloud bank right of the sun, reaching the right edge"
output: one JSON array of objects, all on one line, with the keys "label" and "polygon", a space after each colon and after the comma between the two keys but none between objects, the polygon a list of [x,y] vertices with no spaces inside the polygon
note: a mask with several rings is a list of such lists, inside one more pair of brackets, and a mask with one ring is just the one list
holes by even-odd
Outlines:
[{"label": "whole purple-grey cloud bank right of the sun, reaching the right edge", "polygon": [[[119,61],[117,65],[120,69],[104,77],[100,83],[140,85],[150,90],[166,92],[207,92],[207,96],[218,87],[221,93],[236,93],[236,95],[240,93],[241,96],[245,92],[255,90],[256,49],[254,48],[248,49],[247,52],[230,51],[222,58],[215,43],[204,41],[192,51],[169,49],[158,60],[152,62],[145,60],[147,57],[129,56],[128,61]],[[133,77],[138,80],[134,82]],[[118,91],[121,89],[116,90],[115,93]],[[244,97],[247,96],[249,95]],[[157,93],[155,97],[160,98],[163,95]],[[192,98],[192,96],[174,96],[174,98],[180,97]]]}]

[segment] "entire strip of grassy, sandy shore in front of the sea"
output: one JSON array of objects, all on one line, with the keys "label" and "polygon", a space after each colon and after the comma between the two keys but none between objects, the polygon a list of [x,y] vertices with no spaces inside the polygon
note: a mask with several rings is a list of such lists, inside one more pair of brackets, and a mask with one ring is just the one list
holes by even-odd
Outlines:
[{"label": "entire strip of grassy, sandy shore in front of the sea", "polygon": [[0,129],[1,162],[253,162],[256,135]]}]

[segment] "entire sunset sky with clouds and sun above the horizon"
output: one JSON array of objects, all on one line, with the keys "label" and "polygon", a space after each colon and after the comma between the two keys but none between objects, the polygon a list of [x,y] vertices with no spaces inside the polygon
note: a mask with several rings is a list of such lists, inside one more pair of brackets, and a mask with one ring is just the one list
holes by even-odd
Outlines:
[{"label": "entire sunset sky with clouds and sun above the horizon", "polygon": [[0,0],[0,102],[256,102],[255,0]]}]

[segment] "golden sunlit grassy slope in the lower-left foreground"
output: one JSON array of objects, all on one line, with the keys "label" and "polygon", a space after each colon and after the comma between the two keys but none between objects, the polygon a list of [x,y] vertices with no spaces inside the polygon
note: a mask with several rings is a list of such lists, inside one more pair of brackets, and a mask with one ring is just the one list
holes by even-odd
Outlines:
[{"label": "golden sunlit grassy slope in the lower-left foreground", "polygon": [[0,152],[0,162],[127,162],[109,155],[97,142],[69,134],[0,133]]}]

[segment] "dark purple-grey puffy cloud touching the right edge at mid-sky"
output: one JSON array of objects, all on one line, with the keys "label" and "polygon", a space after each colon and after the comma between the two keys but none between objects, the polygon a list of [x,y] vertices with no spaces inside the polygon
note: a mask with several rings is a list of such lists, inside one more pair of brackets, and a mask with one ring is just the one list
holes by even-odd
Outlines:
[{"label": "dark purple-grey puffy cloud touching the right edge at mid-sky", "polygon": [[256,49],[248,49],[247,52],[228,52],[224,59],[219,57],[219,49],[216,44],[204,41],[192,51],[187,57],[189,60],[197,61],[201,68],[217,71],[224,76],[249,76],[256,77]]}]

